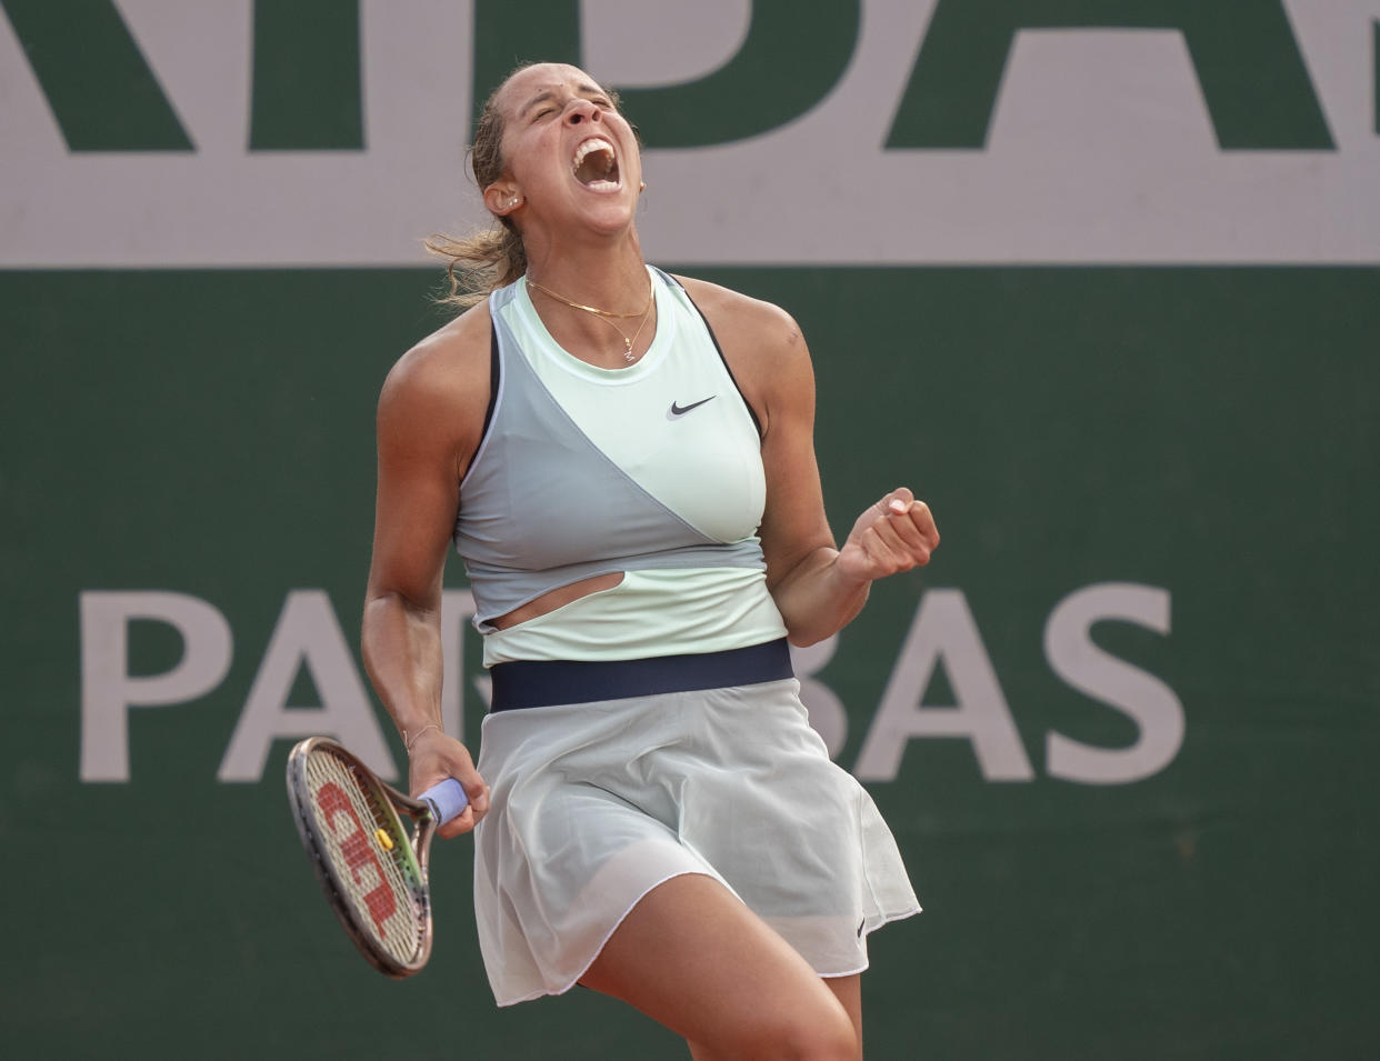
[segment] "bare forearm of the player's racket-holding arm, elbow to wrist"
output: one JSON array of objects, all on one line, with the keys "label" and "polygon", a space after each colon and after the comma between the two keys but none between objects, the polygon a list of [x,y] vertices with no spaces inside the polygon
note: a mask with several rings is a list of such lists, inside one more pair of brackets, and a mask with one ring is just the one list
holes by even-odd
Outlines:
[{"label": "bare forearm of the player's racket-holding arm, elbow to wrist", "polygon": [[397,593],[364,603],[360,632],[364,669],[406,738],[440,726],[440,610]]}]

